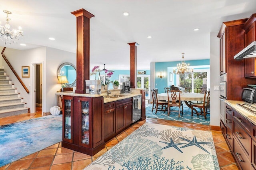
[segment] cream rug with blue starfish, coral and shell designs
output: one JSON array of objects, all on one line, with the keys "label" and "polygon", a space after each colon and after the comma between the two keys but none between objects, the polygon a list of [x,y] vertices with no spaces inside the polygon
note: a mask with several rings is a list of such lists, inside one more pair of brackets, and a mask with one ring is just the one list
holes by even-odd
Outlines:
[{"label": "cream rug with blue starfish, coral and shell designs", "polygon": [[212,132],[145,123],[84,170],[220,170]]}]

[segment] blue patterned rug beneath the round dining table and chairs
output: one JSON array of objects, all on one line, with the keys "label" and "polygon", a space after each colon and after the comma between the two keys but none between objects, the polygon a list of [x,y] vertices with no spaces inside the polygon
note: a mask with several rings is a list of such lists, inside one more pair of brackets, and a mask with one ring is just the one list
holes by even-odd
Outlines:
[{"label": "blue patterned rug beneath the round dining table and chairs", "polygon": [[[172,110],[178,111],[178,107],[172,107]],[[181,109],[180,109],[181,110]],[[200,109],[197,108],[198,112],[200,112]],[[206,114],[206,118],[204,116],[197,114],[193,114],[191,116],[191,108],[186,106],[186,104],[183,104],[183,115],[180,113],[180,117],[178,116],[178,112],[171,112],[168,116],[167,110],[164,113],[164,111],[157,111],[154,109],[152,112],[152,104],[146,104],[146,117],[147,118],[156,118],[156,119],[164,119],[164,120],[176,120],[176,121],[182,121],[182,122],[188,122],[188,123],[197,123],[197,124],[204,124],[209,125],[210,124],[210,114]]]}]

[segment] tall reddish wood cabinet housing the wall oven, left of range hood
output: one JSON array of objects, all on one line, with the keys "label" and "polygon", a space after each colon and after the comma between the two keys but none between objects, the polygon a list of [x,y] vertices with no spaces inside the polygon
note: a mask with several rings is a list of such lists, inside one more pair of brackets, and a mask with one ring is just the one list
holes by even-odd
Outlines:
[{"label": "tall reddish wood cabinet housing the wall oven, left of range hood", "polygon": [[218,38],[220,38],[220,75],[227,74],[227,100],[242,100],[243,87],[249,84],[244,78],[244,59],[234,60],[234,56],[245,46],[245,34],[242,28],[246,20],[223,22],[218,33]]}]

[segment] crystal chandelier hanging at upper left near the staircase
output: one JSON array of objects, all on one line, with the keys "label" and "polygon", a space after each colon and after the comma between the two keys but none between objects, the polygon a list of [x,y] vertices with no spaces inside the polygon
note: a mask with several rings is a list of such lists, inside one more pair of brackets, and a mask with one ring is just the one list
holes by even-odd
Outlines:
[{"label": "crystal chandelier hanging at upper left near the staircase", "polygon": [[9,21],[11,18],[8,17],[8,14],[12,14],[12,12],[8,10],[4,10],[4,13],[6,13],[6,24],[5,26],[0,25],[0,38],[4,41],[4,45],[16,43],[21,36],[23,36],[23,31],[21,30],[21,27],[19,27],[18,30],[13,29],[10,31],[10,24]]}]

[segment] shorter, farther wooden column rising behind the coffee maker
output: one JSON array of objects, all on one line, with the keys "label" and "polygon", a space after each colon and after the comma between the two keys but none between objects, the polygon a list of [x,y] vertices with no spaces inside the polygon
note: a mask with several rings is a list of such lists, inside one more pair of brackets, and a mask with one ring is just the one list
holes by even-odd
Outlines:
[{"label": "shorter, farther wooden column rising behind the coffee maker", "polygon": [[130,45],[130,86],[137,88],[137,42],[128,43]]}]

